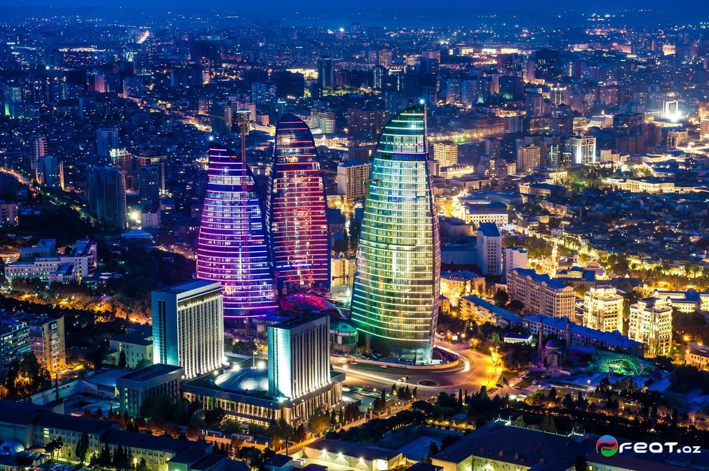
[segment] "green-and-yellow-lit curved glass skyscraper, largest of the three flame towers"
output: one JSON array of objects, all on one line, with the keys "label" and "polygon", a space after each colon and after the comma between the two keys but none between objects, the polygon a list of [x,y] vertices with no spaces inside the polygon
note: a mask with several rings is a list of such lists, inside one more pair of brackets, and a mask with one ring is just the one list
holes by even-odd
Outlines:
[{"label": "green-and-yellow-lit curved glass skyscraper, largest of the three flame towers", "polygon": [[379,137],[359,236],[350,321],[368,350],[430,363],[440,237],[426,153],[426,110],[395,115]]}]

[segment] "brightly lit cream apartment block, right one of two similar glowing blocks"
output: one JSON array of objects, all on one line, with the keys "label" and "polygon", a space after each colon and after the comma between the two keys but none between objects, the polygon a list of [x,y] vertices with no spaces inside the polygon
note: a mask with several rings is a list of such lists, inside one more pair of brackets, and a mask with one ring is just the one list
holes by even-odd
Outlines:
[{"label": "brightly lit cream apartment block, right one of two similar glowing blocks", "polygon": [[642,342],[645,356],[667,356],[672,346],[672,307],[666,300],[647,297],[630,305],[627,336]]}]

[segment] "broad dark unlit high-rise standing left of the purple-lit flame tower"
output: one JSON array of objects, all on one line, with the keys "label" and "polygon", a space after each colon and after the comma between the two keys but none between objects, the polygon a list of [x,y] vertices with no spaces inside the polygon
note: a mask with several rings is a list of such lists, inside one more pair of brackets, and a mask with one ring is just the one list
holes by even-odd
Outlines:
[{"label": "broad dark unlit high-rise standing left of the purple-lit flame tower", "polygon": [[101,224],[117,229],[128,227],[125,177],[112,166],[90,166],[86,175],[89,212]]}]

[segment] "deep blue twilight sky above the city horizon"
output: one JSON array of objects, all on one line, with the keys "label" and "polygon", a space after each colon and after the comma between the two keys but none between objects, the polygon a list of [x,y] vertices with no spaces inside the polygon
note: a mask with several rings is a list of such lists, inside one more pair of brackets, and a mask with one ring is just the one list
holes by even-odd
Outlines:
[{"label": "deep blue twilight sky above the city horizon", "polygon": [[[48,8],[49,7],[49,8]],[[582,13],[615,14],[620,23],[698,23],[709,21],[709,0],[0,0],[0,18],[24,16],[40,11],[70,11],[94,17],[123,16],[135,19],[140,13],[155,17],[172,13],[228,12],[245,19],[280,19],[284,23],[342,23],[352,21],[373,25],[377,19],[390,24],[454,25],[474,23],[486,13],[496,18],[519,18],[527,22],[539,18],[559,18],[554,23],[588,24]],[[622,18],[622,19],[621,19]],[[560,24],[559,24],[560,25]]]}]

